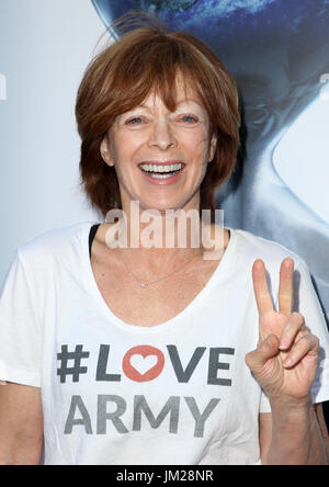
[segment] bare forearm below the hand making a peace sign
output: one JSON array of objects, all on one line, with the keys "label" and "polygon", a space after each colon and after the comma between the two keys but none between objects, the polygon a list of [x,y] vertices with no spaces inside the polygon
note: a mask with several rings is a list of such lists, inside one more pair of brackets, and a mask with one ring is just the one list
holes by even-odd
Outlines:
[{"label": "bare forearm below the hand making a peace sign", "polygon": [[314,407],[272,405],[272,441],[265,465],[329,465]]}]

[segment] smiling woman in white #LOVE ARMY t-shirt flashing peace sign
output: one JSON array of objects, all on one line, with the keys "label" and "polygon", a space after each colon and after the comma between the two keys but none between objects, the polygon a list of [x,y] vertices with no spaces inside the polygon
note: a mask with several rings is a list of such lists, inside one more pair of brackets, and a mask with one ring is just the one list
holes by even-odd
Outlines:
[{"label": "smiling woman in white #LOVE ARMY t-shirt flashing peace sign", "polygon": [[214,223],[239,147],[225,67],[193,36],[136,29],[90,64],[76,113],[105,220],[18,249],[0,462],[37,464],[45,443],[46,464],[326,464],[329,340],[306,264]]}]

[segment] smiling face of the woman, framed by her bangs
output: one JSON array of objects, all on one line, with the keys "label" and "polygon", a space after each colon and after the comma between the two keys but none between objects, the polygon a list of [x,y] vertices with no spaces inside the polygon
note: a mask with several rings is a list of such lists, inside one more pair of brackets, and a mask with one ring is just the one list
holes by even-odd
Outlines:
[{"label": "smiling face of the woman, framed by her bangs", "polygon": [[198,209],[216,139],[195,92],[185,93],[178,82],[177,95],[177,109],[170,112],[150,93],[140,106],[116,117],[101,144],[104,160],[115,168],[124,211],[131,201],[139,201],[140,211]]}]

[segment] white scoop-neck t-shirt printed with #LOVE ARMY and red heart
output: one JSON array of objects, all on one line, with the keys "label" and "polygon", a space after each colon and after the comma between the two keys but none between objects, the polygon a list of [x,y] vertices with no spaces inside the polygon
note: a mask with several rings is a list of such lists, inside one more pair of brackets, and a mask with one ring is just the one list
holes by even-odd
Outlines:
[{"label": "white scoop-neck t-shirt printed with #LOVE ARMY and red heart", "polygon": [[0,380],[41,387],[46,465],[259,463],[259,412],[270,406],[245,362],[258,342],[257,258],[275,305],[280,264],[294,259],[296,309],[321,344],[313,398],[329,399],[328,331],[298,256],[230,229],[192,303],[166,322],[138,327],[116,317],[100,293],[92,225],[49,230],[20,247],[1,293]]}]

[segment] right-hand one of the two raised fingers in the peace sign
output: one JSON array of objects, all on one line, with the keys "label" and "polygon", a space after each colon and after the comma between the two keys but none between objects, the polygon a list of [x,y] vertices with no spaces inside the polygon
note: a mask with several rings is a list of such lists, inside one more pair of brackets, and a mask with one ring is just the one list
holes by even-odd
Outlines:
[{"label": "right-hand one of the two raised fingers in the peace sign", "polygon": [[279,313],[291,316],[294,304],[294,264],[293,259],[287,258],[281,262],[279,284]]}]

